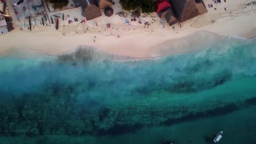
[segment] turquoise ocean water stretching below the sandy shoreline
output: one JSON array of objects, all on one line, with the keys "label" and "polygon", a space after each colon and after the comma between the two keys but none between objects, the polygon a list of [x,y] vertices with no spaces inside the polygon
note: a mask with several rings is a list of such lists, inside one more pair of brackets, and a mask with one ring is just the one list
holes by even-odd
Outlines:
[{"label": "turquoise ocean water stretching below the sandy shoreline", "polygon": [[[202,43],[202,41],[194,41]],[[256,39],[159,58],[0,58],[0,143],[256,143]],[[171,46],[170,46],[171,47]]]}]

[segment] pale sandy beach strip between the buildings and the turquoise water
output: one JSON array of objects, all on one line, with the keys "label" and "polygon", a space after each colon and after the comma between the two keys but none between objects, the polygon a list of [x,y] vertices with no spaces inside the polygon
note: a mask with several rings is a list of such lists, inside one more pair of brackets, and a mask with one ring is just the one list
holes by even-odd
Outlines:
[{"label": "pale sandy beach strip between the buildings and the turquoise water", "polygon": [[[167,40],[172,40],[172,43],[168,43],[170,46],[166,48],[169,51],[168,54],[191,52],[195,50],[191,50],[189,47],[178,49],[176,39],[181,41],[183,37],[199,31],[255,38],[256,5],[247,7],[245,5],[252,1],[228,0],[226,3],[214,5],[217,10],[207,7],[208,13],[182,23],[182,27],[174,25],[174,29],[167,25],[162,27],[156,14],[141,18],[142,21],[151,23],[149,28],[144,28],[144,25],[140,25],[138,22],[131,22],[131,26],[125,25],[125,20],[130,20],[130,16],[121,18],[118,15],[112,17],[103,15],[86,23],[74,22],[68,24],[68,20],[61,20],[58,31],[54,26],[38,26],[32,28],[32,32],[27,28],[20,30],[19,22],[15,20],[14,11],[9,3],[8,6],[10,14],[13,15],[15,30],[0,36],[0,56],[6,52],[25,49],[42,52],[46,55],[60,55],[71,52],[78,45],[91,45],[118,55],[155,57],[159,56],[155,53],[158,53],[158,49],[161,49]],[[116,4],[113,5],[114,13],[118,13],[121,11],[120,4],[118,1],[115,2]],[[204,2],[206,5],[212,3],[211,0],[204,0]],[[60,11],[59,13],[69,14],[79,20],[83,19],[78,8]],[[97,28],[94,27],[95,22],[99,25]],[[112,27],[106,28],[106,23],[111,23]]]}]

